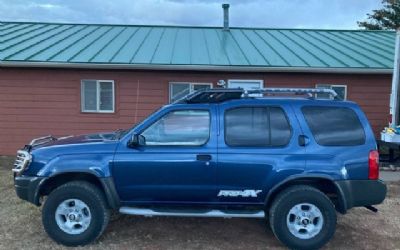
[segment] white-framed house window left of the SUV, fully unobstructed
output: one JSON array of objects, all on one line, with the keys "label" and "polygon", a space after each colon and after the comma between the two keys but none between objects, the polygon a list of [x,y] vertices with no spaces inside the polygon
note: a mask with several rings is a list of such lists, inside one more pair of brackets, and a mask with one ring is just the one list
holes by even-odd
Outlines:
[{"label": "white-framed house window left of the SUV, fully unobstructed", "polygon": [[113,113],[115,106],[114,81],[82,80],[82,112]]}]

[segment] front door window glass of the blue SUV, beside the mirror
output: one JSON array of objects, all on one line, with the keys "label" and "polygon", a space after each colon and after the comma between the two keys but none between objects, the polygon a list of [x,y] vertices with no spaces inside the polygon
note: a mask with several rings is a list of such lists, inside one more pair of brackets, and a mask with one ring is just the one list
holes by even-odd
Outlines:
[{"label": "front door window glass of the blue SUV, beside the mirror", "polygon": [[210,112],[207,110],[172,111],[148,127],[142,135],[146,145],[200,146],[210,136]]}]

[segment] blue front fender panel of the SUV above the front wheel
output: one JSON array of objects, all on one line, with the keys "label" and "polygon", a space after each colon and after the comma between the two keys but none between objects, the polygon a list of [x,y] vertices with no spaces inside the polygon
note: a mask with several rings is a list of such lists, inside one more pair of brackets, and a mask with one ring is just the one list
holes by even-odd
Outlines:
[{"label": "blue front fender panel of the SUV above the front wheel", "polygon": [[110,177],[113,154],[72,154],[59,155],[50,160],[37,173],[48,177],[66,172],[84,172],[99,178]]}]

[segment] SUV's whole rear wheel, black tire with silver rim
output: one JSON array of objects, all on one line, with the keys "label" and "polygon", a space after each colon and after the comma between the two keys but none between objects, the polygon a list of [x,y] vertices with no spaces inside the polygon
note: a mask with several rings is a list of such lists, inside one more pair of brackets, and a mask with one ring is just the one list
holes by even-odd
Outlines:
[{"label": "SUV's whole rear wheel, black tire with silver rim", "polygon": [[275,236],[292,249],[318,249],[336,229],[331,200],[310,186],[293,186],[274,200],[269,219]]}]

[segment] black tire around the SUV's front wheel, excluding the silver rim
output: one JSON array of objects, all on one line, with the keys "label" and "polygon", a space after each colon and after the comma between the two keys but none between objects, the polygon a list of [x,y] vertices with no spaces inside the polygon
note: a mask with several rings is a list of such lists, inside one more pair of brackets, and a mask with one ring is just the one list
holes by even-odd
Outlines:
[{"label": "black tire around the SUV's front wheel, excluding the silver rim", "polygon": [[[82,233],[69,234],[57,225],[57,207],[69,199],[83,201],[90,210],[90,223]],[[68,182],[53,190],[42,210],[42,223],[45,231],[54,241],[65,246],[82,246],[93,242],[102,234],[109,219],[110,211],[103,192],[95,185],[85,181]]]}]

